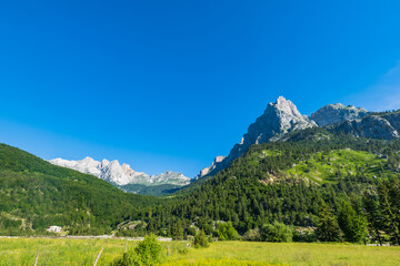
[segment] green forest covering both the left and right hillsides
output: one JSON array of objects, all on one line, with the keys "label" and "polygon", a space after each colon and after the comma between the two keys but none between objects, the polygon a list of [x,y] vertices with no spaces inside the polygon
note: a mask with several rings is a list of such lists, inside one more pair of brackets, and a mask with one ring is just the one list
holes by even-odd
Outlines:
[{"label": "green forest covering both the left and right hillsides", "polygon": [[258,144],[228,168],[164,197],[0,146],[0,234],[156,233],[183,239],[400,244],[400,142],[317,127]]}]

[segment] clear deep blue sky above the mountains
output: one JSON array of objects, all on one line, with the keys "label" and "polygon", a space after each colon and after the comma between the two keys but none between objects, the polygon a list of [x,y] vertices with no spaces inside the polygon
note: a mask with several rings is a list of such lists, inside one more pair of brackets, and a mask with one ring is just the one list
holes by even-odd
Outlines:
[{"label": "clear deep blue sky above the mountains", "polygon": [[279,95],[400,108],[399,1],[0,2],[0,142],[194,176]]}]

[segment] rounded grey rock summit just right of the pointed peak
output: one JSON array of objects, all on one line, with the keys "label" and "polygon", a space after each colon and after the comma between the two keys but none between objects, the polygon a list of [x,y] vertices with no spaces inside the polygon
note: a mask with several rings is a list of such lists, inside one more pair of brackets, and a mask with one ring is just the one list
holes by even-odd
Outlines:
[{"label": "rounded grey rock summit just right of the pointed peak", "polygon": [[311,119],[319,126],[337,124],[344,121],[352,121],[364,117],[369,112],[353,105],[344,106],[341,103],[328,104],[311,114]]}]

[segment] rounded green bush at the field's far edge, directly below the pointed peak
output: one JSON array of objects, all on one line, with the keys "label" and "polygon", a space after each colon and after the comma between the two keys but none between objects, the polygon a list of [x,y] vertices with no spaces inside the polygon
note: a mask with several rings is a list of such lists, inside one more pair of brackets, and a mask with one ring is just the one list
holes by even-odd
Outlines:
[{"label": "rounded green bush at the field's far edge, directly below the pointed peak", "polygon": [[261,227],[261,241],[263,242],[291,242],[292,237],[293,231],[277,221]]}]

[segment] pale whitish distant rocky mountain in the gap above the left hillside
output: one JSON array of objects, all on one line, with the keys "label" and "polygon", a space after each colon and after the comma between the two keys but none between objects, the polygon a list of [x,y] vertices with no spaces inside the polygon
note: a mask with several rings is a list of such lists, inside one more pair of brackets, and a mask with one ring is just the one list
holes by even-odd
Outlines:
[{"label": "pale whitish distant rocky mountain in the gap above the left hillside", "polygon": [[[51,164],[77,170],[81,173],[92,174],[101,180],[104,180],[118,187],[124,187],[127,185],[142,185],[142,186],[158,186],[158,185],[174,185],[183,186],[190,183],[190,178],[186,177],[181,173],[174,173],[167,171],[159,175],[148,175],[142,172],[133,171],[129,164],[120,164],[117,160],[109,162],[102,160],[101,162],[96,161],[91,157],[86,157],[80,161],[68,161],[62,158],[54,158],[49,161]],[[136,192],[136,191],[133,191]]]}]

